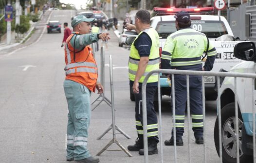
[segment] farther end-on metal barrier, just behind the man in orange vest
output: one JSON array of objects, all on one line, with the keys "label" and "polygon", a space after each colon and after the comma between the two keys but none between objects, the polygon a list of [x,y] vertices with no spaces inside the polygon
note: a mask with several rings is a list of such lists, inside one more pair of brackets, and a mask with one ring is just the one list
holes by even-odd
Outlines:
[{"label": "farther end-on metal barrier, just behind the man in orange vest", "polygon": [[[100,59],[100,83],[102,84],[103,88],[105,89],[105,47],[104,46],[101,47],[101,49],[100,49],[100,58],[101,58]],[[91,102],[91,105],[94,104],[99,98],[102,98],[102,99],[91,111],[93,111],[97,106],[99,106],[102,101],[105,101],[111,107],[111,101],[105,97],[104,92],[102,94],[100,94],[99,97],[96,98],[93,102]]]}]

